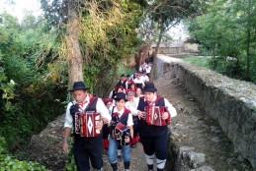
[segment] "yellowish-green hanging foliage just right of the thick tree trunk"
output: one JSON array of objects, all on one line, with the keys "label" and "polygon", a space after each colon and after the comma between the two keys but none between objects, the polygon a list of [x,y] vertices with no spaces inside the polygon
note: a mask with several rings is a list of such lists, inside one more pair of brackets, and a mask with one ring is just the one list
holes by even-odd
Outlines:
[{"label": "yellowish-green hanging foliage just right of the thick tree trunk", "polygon": [[119,63],[134,54],[140,43],[135,32],[140,6],[131,1],[106,0],[88,1],[85,7],[80,32],[82,53],[86,56],[84,81],[95,88],[94,93],[106,96],[119,77]]}]

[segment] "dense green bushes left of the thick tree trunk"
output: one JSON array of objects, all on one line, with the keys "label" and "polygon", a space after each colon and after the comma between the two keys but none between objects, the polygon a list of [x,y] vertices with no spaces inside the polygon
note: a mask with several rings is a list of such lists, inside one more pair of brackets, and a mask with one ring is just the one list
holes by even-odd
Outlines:
[{"label": "dense green bushes left of the thick tree trunk", "polygon": [[[0,135],[13,150],[64,112],[66,65],[54,61],[59,46],[54,40],[56,33],[45,32],[44,22],[28,16],[19,25],[8,14],[2,14],[2,19]],[[52,71],[53,62],[57,72]]]}]

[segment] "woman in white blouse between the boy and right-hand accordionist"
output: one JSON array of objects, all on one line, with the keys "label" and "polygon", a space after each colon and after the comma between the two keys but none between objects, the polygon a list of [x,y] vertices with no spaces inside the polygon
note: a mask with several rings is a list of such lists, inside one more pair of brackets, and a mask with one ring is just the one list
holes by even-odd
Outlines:
[{"label": "woman in white blouse between the boy and right-hand accordionist", "polygon": [[134,90],[132,89],[127,90],[128,101],[126,102],[126,107],[130,110],[132,114],[132,120],[133,120],[133,139],[130,142],[130,147],[136,147],[136,142],[139,141],[139,135],[137,132],[137,128],[138,128],[137,113],[139,113],[140,111],[137,110],[138,98],[135,98],[134,95],[135,95]]}]

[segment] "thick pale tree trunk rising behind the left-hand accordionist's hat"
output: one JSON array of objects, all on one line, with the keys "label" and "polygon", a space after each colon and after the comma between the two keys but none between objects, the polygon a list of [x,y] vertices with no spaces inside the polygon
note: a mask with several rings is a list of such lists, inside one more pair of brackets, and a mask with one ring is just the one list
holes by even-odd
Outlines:
[{"label": "thick pale tree trunk rising behind the left-hand accordionist's hat", "polygon": [[83,81],[83,58],[79,45],[79,0],[69,0],[66,45],[68,58],[68,86]]}]

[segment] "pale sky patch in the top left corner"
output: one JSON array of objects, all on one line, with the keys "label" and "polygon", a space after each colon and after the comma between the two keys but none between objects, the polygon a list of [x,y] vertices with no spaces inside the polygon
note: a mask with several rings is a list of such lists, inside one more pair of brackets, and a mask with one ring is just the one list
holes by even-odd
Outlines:
[{"label": "pale sky patch in the top left corner", "polygon": [[40,0],[0,0],[0,14],[7,11],[21,22],[24,11],[30,11],[35,16],[41,15],[40,6]]}]

